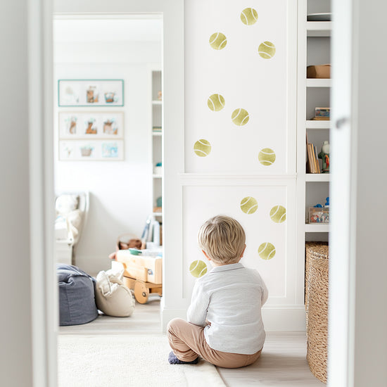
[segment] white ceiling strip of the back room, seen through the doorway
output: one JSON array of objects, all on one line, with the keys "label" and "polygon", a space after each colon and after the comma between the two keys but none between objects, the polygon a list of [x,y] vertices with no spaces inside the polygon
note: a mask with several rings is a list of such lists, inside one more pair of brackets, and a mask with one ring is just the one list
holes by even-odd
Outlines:
[{"label": "white ceiling strip of the back room, seen through the doorway", "polygon": [[161,42],[163,19],[55,19],[54,42]]}]

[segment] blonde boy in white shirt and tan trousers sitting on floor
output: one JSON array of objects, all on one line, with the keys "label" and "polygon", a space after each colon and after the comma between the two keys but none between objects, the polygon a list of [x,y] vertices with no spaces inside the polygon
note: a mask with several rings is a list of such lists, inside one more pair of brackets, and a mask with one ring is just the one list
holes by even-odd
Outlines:
[{"label": "blonde boy in white shirt and tan trousers sitting on floor", "polygon": [[172,319],[167,326],[171,364],[196,364],[201,356],[219,367],[238,368],[260,357],[267,287],[255,269],[239,263],[245,241],[241,224],[227,216],[212,217],[199,230],[199,246],[213,268],[196,279],[188,322]]}]

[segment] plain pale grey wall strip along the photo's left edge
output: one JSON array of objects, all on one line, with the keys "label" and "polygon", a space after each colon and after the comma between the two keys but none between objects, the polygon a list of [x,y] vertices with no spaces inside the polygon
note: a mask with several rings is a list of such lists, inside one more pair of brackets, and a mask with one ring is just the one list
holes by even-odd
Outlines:
[{"label": "plain pale grey wall strip along the photo's left edge", "polygon": [[15,291],[1,302],[0,375],[2,386],[28,387],[32,386],[32,316],[27,296],[31,283],[26,3],[19,0],[0,6],[1,29],[7,32],[0,35],[1,55],[6,58],[0,61],[1,258],[4,270],[13,260],[20,267],[16,288],[13,276],[1,279],[4,289]]}]

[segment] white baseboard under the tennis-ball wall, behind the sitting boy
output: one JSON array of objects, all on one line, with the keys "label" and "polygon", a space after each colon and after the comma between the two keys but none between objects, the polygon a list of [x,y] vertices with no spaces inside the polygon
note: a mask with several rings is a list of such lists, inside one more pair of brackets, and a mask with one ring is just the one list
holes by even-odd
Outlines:
[{"label": "white baseboard under the tennis-ball wall, behind the sitting boy", "polygon": [[[186,319],[186,310],[165,309],[161,305],[161,321],[163,332],[167,324],[176,317]],[[292,306],[267,306],[262,309],[262,319],[265,324],[265,331],[305,331],[305,307],[303,305]]]}]

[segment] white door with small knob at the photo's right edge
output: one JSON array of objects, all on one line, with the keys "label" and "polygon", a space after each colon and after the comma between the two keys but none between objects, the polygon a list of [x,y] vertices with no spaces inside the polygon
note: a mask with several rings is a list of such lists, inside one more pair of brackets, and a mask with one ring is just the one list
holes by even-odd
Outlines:
[{"label": "white door with small knob at the photo's right edge", "polygon": [[334,0],[329,386],[386,386],[385,15]]}]

